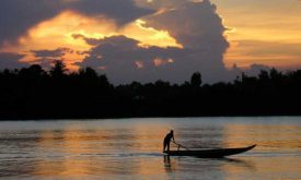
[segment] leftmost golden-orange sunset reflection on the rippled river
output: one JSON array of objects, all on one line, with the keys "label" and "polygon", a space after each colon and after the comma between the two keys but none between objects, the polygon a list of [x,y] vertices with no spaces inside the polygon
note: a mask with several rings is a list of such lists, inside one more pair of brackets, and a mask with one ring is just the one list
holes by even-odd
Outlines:
[{"label": "leftmost golden-orange sunset reflection on the rippled river", "polygon": [[[89,173],[90,159],[80,159],[82,153],[89,153],[89,143],[84,142],[82,131],[46,131],[40,134],[38,146],[45,148],[48,154],[54,156],[44,157],[35,165],[35,175],[40,176],[60,176],[79,177]],[[84,145],[84,146],[83,146]],[[56,154],[62,156],[56,157]]]}]

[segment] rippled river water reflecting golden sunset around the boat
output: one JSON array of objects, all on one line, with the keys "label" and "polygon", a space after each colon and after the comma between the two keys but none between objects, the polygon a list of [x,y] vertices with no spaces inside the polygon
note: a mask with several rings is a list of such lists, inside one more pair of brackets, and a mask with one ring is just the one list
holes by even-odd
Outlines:
[{"label": "rippled river water reflecting golden sunset around the boat", "polygon": [[[170,129],[192,148],[257,147],[224,159],[164,159]],[[1,179],[300,180],[300,117],[0,122]]]}]

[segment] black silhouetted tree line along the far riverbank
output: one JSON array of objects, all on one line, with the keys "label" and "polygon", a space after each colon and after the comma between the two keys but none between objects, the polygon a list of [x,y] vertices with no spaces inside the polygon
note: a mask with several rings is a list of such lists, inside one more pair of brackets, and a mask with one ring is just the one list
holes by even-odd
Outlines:
[{"label": "black silhouetted tree line along the far riverbank", "polygon": [[211,85],[199,72],[183,84],[113,85],[92,68],[67,73],[56,61],[49,71],[3,70],[0,84],[1,120],[301,115],[301,70],[262,70]]}]

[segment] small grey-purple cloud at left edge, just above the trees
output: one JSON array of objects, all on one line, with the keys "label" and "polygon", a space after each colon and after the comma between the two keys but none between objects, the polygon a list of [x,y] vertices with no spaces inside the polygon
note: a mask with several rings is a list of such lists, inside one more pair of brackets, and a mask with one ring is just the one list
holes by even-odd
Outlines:
[{"label": "small grey-purple cloud at left edge, just above the trees", "polygon": [[0,70],[26,67],[25,63],[19,61],[23,57],[23,55],[19,53],[0,52]]}]

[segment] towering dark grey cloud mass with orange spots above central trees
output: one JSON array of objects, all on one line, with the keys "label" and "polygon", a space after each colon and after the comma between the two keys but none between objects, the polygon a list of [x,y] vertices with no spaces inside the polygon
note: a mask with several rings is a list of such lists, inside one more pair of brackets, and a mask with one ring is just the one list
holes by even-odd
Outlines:
[{"label": "towering dark grey cloud mass with orange spots above central trees", "polygon": [[[216,5],[208,0],[181,1],[181,5],[171,5],[169,8],[172,9],[146,16],[142,25],[169,32],[183,45],[183,49],[141,48],[139,41],[119,36],[100,41],[83,64],[105,70],[115,83],[155,79],[183,82],[195,71],[201,72],[205,82],[229,79],[231,74],[223,64],[229,44]],[[137,61],[139,69],[135,67]]]}]

